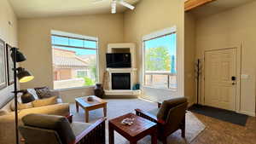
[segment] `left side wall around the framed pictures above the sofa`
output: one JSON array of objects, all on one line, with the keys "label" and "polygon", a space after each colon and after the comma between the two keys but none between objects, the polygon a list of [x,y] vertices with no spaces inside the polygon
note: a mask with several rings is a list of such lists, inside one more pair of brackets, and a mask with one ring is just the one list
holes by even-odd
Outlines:
[{"label": "left side wall around the framed pictures above the sofa", "polygon": [[[11,25],[9,25],[9,22]],[[17,20],[8,0],[0,1],[0,38],[14,47],[18,46]],[[13,85],[0,90],[0,108],[6,103],[6,101],[12,98],[12,94],[10,93],[12,90]]]}]

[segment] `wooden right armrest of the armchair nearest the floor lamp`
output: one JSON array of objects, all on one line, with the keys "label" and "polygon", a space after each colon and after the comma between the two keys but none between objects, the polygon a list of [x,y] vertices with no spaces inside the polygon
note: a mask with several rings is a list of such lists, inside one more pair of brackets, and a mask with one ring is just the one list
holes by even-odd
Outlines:
[{"label": "wooden right armrest of the armchair nearest the floor lamp", "polygon": [[84,139],[84,137],[86,135],[89,135],[90,133],[97,133],[97,130],[104,130],[104,136],[105,136],[105,121],[107,118],[101,118],[99,120],[96,121],[96,123],[91,124],[89,128],[87,128],[86,130],[84,130],[80,135],[76,136],[76,140],[75,143],[78,143],[79,141],[81,141],[82,139]]}]

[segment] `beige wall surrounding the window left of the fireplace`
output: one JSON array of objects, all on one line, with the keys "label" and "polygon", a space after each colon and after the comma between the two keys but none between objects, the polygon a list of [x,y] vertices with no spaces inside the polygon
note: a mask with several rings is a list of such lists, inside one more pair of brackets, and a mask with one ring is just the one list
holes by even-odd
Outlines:
[{"label": "beige wall surrounding the window left of the fireplace", "polygon": [[94,14],[19,20],[19,45],[27,60],[22,64],[35,76],[22,89],[48,85],[53,87],[50,31],[57,30],[99,38],[100,79],[105,71],[108,43],[123,42],[123,14]]}]

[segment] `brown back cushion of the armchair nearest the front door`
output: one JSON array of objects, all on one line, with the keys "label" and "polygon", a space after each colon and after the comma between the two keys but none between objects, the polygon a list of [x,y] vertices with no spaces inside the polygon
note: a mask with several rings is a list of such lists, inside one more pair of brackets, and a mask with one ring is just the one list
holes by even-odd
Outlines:
[{"label": "brown back cushion of the armchair nearest the front door", "polygon": [[178,97],[173,98],[171,100],[163,101],[159,112],[157,113],[157,118],[166,120],[169,110],[172,107],[176,107],[177,105],[180,105],[184,102],[187,102],[187,98],[185,97]]}]

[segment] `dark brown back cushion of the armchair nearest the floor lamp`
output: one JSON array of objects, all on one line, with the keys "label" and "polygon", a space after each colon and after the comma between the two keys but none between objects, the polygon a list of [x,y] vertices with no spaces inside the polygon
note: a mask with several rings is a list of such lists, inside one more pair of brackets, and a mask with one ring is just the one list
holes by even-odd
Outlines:
[{"label": "dark brown back cushion of the armchair nearest the floor lamp", "polygon": [[73,130],[65,117],[45,114],[28,114],[22,118],[22,121],[26,126],[55,130],[60,136],[62,144],[69,144],[76,139]]}]

